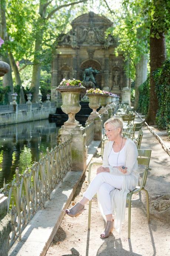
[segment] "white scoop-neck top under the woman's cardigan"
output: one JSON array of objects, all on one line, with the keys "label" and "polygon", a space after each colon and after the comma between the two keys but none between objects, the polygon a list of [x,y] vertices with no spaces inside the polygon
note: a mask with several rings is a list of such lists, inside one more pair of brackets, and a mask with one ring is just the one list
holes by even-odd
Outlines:
[{"label": "white scoop-neck top under the woman's cardigan", "polygon": [[[126,142],[125,142],[126,144]],[[119,152],[114,152],[113,147],[111,148],[108,163],[111,167],[125,165],[126,154],[125,154],[125,145]]]}]

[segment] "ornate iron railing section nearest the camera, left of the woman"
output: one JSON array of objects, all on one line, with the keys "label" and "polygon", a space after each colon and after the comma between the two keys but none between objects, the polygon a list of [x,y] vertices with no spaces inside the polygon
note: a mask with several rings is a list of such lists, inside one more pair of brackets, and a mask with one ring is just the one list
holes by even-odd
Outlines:
[{"label": "ornate iron railing section nearest the camera, left of the woman", "polygon": [[26,227],[37,210],[44,206],[50,198],[54,187],[71,171],[71,139],[57,145],[39,162],[34,162],[23,174],[16,168],[16,177],[11,184],[5,184],[0,189],[8,197],[8,212],[11,215],[12,232],[9,246],[21,239],[21,232]]}]

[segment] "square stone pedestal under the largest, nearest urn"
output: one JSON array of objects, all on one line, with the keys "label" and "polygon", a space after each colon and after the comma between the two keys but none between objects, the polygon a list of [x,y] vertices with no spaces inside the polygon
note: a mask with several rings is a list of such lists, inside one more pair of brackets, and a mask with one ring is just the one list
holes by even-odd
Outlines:
[{"label": "square stone pedestal under the largest, nearest urn", "polygon": [[87,159],[86,128],[82,125],[62,125],[57,140],[64,142],[71,138],[71,170],[85,171]]}]

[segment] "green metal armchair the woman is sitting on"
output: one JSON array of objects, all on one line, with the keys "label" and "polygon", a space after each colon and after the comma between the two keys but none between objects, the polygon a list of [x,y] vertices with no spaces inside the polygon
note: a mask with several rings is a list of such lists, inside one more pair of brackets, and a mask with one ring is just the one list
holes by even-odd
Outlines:
[{"label": "green metal armchair the woman is sitting on", "polygon": [[[128,204],[128,238],[130,238],[130,228],[131,228],[131,197],[133,194],[139,193],[141,190],[144,190],[146,193],[146,205],[147,205],[147,219],[148,223],[150,223],[150,217],[149,217],[149,195],[147,190],[144,188],[146,184],[146,179],[147,179],[147,173],[151,168],[149,168],[149,163],[150,163],[150,156],[151,156],[151,150],[138,150],[138,157],[137,161],[139,164],[146,165],[146,169],[143,172],[143,177],[141,181],[141,185],[137,186],[133,191],[130,191],[127,194],[126,202]],[[90,177],[91,177],[91,168],[94,165],[102,165],[102,163],[99,162],[94,162],[91,163],[89,166],[89,175],[88,175],[88,181],[90,184]],[[96,197],[96,195],[94,196]],[[89,201],[89,218],[88,218],[88,229],[90,229],[90,222],[91,222],[91,200]]]}]

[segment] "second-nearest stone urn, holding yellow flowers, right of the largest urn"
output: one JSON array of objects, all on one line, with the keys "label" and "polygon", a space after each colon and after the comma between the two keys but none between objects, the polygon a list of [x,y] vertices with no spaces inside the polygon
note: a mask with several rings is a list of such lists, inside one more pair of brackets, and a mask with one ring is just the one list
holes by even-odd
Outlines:
[{"label": "second-nearest stone urn, holding yellow flowers, right of the largest urn", "polygon": [[87,93],[86,95],[89,97],[89,108],[93,109],[88,119],[94,119],[96,117],[99,117],[97,108],[100,107],[101,94]]}]

